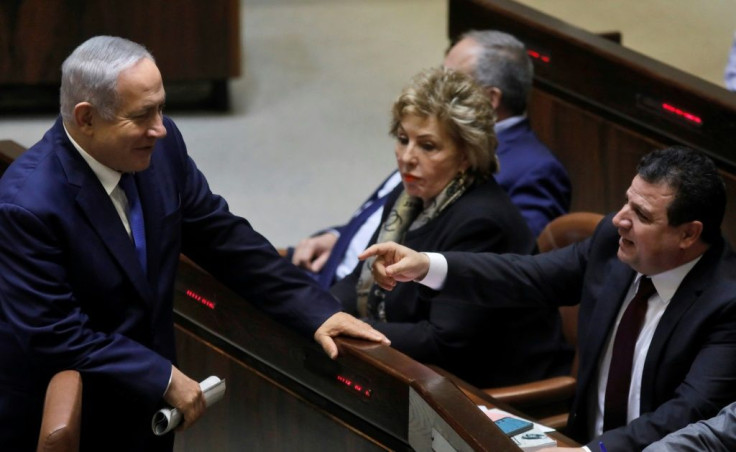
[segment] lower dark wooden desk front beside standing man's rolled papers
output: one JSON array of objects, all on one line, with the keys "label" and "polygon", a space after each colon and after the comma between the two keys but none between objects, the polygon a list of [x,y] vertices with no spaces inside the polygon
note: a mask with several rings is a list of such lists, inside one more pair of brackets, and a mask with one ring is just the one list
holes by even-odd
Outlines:
[{"label": "lower dark wooden desk front beside standing man's rolled papers", "polygon": [[227,396],[177,435],[175,450],[389,449],[190,331],[178,327],[176,339],[180,367],[225,378]]}]

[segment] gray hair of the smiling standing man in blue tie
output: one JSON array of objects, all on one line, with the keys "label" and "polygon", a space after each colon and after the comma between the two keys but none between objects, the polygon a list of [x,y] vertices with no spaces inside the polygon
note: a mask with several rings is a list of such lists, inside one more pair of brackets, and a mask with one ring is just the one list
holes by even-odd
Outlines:
[{"label": "gray hair of the smiling standing man in blue tie", "polygon": [[115,36],[95,36],[74,49],[61,65],[61,117],[71,122],[74,107],[92,104],[100,116],[112,119],[118,108],[120,73],[143,58],[155,61],[140,44]]}]

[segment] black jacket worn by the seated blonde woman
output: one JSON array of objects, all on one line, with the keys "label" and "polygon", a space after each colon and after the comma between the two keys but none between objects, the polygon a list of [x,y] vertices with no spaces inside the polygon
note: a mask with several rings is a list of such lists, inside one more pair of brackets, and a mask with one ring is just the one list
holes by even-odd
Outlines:
[{"label": "black jacket worn by the seated blonde woman", "polygon": [[[387,201],[384,220],[402,190],[399,185]],[[468,190],[431,222],[407,232],[404,244],[425,251],[530,253],[534,239],[508,195],[491,179]],[[351,313],[356,312],[362,265],[331,289]],[[415,284],[400,284],[386,295],[386,316],[386,323],[369,323],[393,347],[478,386],[521,383],[569,370],[572,354],[553,308],[447,302],[422,296]]]}]

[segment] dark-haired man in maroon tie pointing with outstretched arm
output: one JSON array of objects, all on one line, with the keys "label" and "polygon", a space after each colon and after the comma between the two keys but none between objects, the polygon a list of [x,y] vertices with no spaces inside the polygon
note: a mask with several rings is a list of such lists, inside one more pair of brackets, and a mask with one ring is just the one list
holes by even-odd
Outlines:
[{"label": "dark-haired man in maroon tie pointing with outstretched arm", "polygon": [[361,258],[379,256],[385,288],[418,281],[438,298],[500,308],[579,303],[568,434],[591,450],[641,450],[736,399],[736,255],[720,234],[725,187],[710,159],[669,148],[637,172],[621,210],[561,250],[438,255],[389,243]]}]

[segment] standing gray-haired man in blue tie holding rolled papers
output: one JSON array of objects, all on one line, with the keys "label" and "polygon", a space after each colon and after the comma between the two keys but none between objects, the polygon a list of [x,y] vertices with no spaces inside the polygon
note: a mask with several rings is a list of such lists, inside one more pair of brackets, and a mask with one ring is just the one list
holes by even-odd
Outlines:
[{"label": "standing gray-haired man in blue tie holding rolled papers", "polygon": [[143,47],[92,38],[62,66],[62,117],[0,180],[3,450],[35,448],[62,369],[83,377],[83,449],[172,448],[151,432],[155,409],[178,408],[184,428],[204,410],[175,366],[180,253],[333,357],[338,334],[387,343],[212,194],[164,100]]}]

